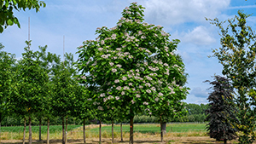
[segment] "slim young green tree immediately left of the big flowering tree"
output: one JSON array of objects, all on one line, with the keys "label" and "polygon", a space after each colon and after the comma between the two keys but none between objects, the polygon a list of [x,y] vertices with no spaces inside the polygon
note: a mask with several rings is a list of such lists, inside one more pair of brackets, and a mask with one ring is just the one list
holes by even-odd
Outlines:
[{"label": "slim young green tree immediately left of the big flowering tree", "polygon": [[65,135],[64,119],[66,118],[67,130],[67,116],[74,112],[73,107],[77,104],[74,103],[77,99],[75,90],[79,86],[77,80],[73,78],[76,75],[76,70],[73,68],[73,55],[66,53],[64,63],[60,62],[53,70],[54,95],[51,98],[51,106],[55,116],[62,118],[62,143],[65,144],[67,135]]}]

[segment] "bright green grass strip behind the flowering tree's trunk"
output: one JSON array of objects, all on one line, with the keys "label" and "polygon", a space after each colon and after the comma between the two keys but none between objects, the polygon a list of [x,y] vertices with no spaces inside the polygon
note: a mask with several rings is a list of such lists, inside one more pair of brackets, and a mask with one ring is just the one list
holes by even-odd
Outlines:
[{"label": "bright green grass strip behind the flowering tree's trunk", "polygon": [[[206,124],[167,124],[167,132],[189,132],[189,131],[206,131]],[[111,131],[111,125],[103,126],[102,131]],[[114,131],[120,130],[120,125],[113,126]],[[128,132],[130,130],[129,124],[123,124],[123,131]],[[90,132],[98,132],[99,128],[88,130]],[[135,124],[134,131],[140,133],[159,133],[160,124]]]}]

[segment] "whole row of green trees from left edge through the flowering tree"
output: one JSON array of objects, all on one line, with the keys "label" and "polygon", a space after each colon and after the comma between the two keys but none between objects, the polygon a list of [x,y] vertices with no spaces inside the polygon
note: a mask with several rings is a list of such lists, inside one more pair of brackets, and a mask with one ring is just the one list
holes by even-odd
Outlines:
[{"label": "whole row of green trees from left edge through the flowering tree", "polygon": [[[98,28],[97,40],[85,41],[78,48],[76,62],[72,54],[61,61],[60,55],[47,53],[46,47],[33,52],[31,41],[26,42],[20,60],[1,51],[0,122],[11,112],[18,114],[24,118],[25,135],[28,120],[32,143],[32,117],[40,125],[43,117],[48,118],[49,135],[49,118],[58,116],[62,118],[62,143],[66,143],[68,117],[84,122],[96,118],[100,130],[102,121],[113,125],[113,121],[129,118],[133,143],[134,116],[146,113],[160,118],[163,141],[167,119],[186,114],[182,100],[188,94],[183,86],[187,74],[181,57],[174,54],[179,41],[169,41],[162,26],[143,22],[143,9],[131,3],[118,26]],[[99,137],[101,142],[101,132]]]}]

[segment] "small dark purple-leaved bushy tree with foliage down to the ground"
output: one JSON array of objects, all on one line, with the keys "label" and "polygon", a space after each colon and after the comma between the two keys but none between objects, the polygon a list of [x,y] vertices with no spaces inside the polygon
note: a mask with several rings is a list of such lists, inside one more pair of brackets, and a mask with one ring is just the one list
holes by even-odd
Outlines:
[{"label": "small dark purple-leaved bushy tree with foliage down to the ground", "polygon": [[[210,82],[207,80],[206,82]],[[236,139],[236,118],[237,112],[234,104],[234,96],[232,95],[233,88],[227,78],[214,76],[214,81],[210,82],[213,85],[213,91],[210,93],[209,108],[206,110],[208,135],[216,141],[224,141]]]}]

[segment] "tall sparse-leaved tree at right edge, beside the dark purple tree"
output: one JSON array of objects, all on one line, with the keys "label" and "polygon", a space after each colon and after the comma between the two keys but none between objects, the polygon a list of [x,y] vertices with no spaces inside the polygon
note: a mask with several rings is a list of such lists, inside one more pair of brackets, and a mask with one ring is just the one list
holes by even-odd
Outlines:
[{"label": "tall sparse-leaved tree at right edge, beside the dark purple tree", "polygon": [[[218,19],[210,20],[211,24],[221,30],[220,43],[222,48],[213,49],[213,56],[224,66],[223,74],[231,79],[232,86],[236,89],[236,105],[239,107],[236,127],[241,131],[241,143],[253,143],[255,140],[255,114],[256,99],[248,95],[250,89],[256,85],[256,35],[250,26],[247,26],[248,14],[238,11],[235,18],[228,20],[227,28],[224,22]],[[229,31],[231,30],[231,32]]]}]

